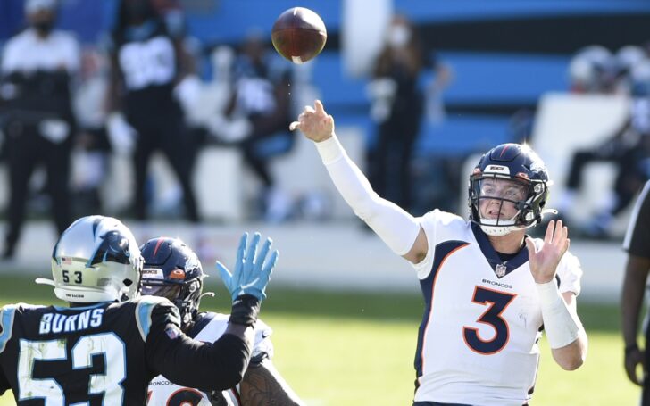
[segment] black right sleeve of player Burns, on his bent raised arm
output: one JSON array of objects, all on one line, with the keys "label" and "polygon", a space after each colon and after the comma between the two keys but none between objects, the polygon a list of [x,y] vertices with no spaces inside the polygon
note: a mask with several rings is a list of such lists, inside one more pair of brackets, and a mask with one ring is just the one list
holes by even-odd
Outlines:
[{"label": "black right sleeve of player Burns, on his bent raised arm", "polygon": [[224,334],[212,344],[183,334],[178,310],[171,302],[158,303],[151,311],[145,349],[148,366],[154,372],[177,385],[205,392],[237,385],[251,356],[249,344],[232,334]]}]

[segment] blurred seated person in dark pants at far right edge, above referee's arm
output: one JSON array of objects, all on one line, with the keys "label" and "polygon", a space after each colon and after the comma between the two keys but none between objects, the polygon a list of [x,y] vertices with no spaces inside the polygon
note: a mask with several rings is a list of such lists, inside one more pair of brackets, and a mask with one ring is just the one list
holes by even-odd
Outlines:
[{"label": "blurred seated person in dark pants at far right edge, above referee's arm", "polygon": [[587,236],[608,236],[616,215],[625,210],[634,195],[650,178],[650,60],[638,62],[630,73],[632,102],[629,119],[601,145],[574,153],[558,210],[567,212],[581,186],[582,172],[589,162],[613,162],[617,175],[613,195],[606,208],[583,229]]}]

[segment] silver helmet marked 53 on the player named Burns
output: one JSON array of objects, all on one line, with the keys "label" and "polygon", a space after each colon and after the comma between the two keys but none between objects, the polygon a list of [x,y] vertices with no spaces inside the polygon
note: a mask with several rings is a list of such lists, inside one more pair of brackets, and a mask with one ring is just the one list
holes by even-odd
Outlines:
[{"label": "silver helmet marked 53 on the player named Burns", "polygon": [[52,253],[52,277],[37,283],[54,286],[66,302],[129,300],[139,294],[144,261],[136,238],[120,220],[87,216],[63,231]]}]

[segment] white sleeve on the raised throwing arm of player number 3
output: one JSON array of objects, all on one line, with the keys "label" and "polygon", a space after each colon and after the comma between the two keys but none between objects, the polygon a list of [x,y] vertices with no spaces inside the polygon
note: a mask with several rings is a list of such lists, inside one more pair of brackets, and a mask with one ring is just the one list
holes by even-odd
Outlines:
[{"label": "white sleeve on the raised throwing arm of player number 3", "polygon": [[394,253],[408,253],[420,232],[420,223],[372,190],[370,182],[347,156],[336,135],[315,144],[329,177],[354,214],[365,221]]}]

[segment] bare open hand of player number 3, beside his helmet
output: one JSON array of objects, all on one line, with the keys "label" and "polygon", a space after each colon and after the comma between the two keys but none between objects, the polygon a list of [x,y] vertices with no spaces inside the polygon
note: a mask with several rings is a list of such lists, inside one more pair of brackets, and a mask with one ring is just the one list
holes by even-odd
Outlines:
[{"label": "bare open hand of player number 3, beside his helmet", "polygon": [[544,245],[537,251],[535,243],[526,237],[529,250],[530,273],[538,284],[550,282],[555,278],[555,269],[562,255],[569,249],[569,229],[562,226],[562,220],[551,220],[546,228]]}]

